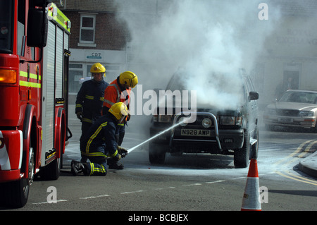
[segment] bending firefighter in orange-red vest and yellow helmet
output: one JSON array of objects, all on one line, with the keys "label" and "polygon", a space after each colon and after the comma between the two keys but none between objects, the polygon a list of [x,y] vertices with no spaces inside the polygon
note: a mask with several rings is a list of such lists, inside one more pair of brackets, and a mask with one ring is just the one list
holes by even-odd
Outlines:
[{"label": "bending firefighter in orange-red vest and yellow helmet", "polygon": [[[102,113],[106,114],[110,107],[116,102],[125,102],[129,110],[131,89],[137,85],[137,82],[137,75],[130,71],[121,73],[116,80],[113,80],[113,82],[111,82],[104,91],[104,107],[102,108]],[[129,119],[130,114],[127,117],[127,121]],[[116,140],[118,145],[121,145],[123,142],[125,124],[126,121],[118,124],[118,129],[116,131]]]}]

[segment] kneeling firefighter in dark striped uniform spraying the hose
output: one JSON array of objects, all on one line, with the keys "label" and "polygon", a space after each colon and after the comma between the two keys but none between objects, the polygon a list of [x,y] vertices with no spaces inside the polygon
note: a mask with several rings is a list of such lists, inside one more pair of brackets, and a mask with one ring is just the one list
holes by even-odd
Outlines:
[{"label": "kneeling firefighter in dark striped uniform spraying the hose", "polygon": [[123,102],[113,104],[108,113],[101,116],[89,128],[84,138],[81,140],[81,153],[90,162],[71,162],[71,170],[74,176],[80,173],[85,175],[106,176],[106,159],[111,157],[110,169],[123,169],[123,164],[118,161],[125,157],[128,151],[117,145],[116,126],[122,123],[128,116],[128,108]]}]

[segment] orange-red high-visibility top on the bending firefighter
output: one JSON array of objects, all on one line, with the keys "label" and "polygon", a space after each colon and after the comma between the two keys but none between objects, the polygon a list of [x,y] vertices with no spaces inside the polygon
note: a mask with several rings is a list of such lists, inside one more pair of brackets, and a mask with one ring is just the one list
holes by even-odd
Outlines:
[{"label": "orange-red high-visibility top on the bending firefighter", "polygon": [[125,103],[128,109],[130,109],[130,93],[131,87],[125,88],[120,85],[119,77],[113,80],[104,91],[104,107],[102,113],[106,114],[110,107],[117,102]]}]

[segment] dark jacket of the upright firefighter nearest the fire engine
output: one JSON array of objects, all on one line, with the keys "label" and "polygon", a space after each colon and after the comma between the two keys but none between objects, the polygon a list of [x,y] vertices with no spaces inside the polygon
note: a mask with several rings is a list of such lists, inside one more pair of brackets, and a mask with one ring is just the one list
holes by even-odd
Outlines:
[{"label": "dark jacket of the upright firefighter nearest the fire engine", "polygon": [[83,122],[92,123],[101,116],[106,87],[108,87],[108,83],[104,80],[97,82],[92,79],[82,83],[82,87],[80,87],[77,94],[75,114],[82,111]]}]

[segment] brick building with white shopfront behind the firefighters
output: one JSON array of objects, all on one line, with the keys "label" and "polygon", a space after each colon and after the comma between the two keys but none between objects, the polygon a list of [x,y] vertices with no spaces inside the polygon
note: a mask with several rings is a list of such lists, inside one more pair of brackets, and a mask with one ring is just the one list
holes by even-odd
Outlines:
[{"label": "brick building with white shopfront behind the firefighters", "polygon": [[64,0],[63,12],[72,23],[69,99],[74,104],[82,82],[91,78],[94,63],[106,67],[108,83],[125,70],[129,33],[125,23],[116,19],[113,1]]}]

